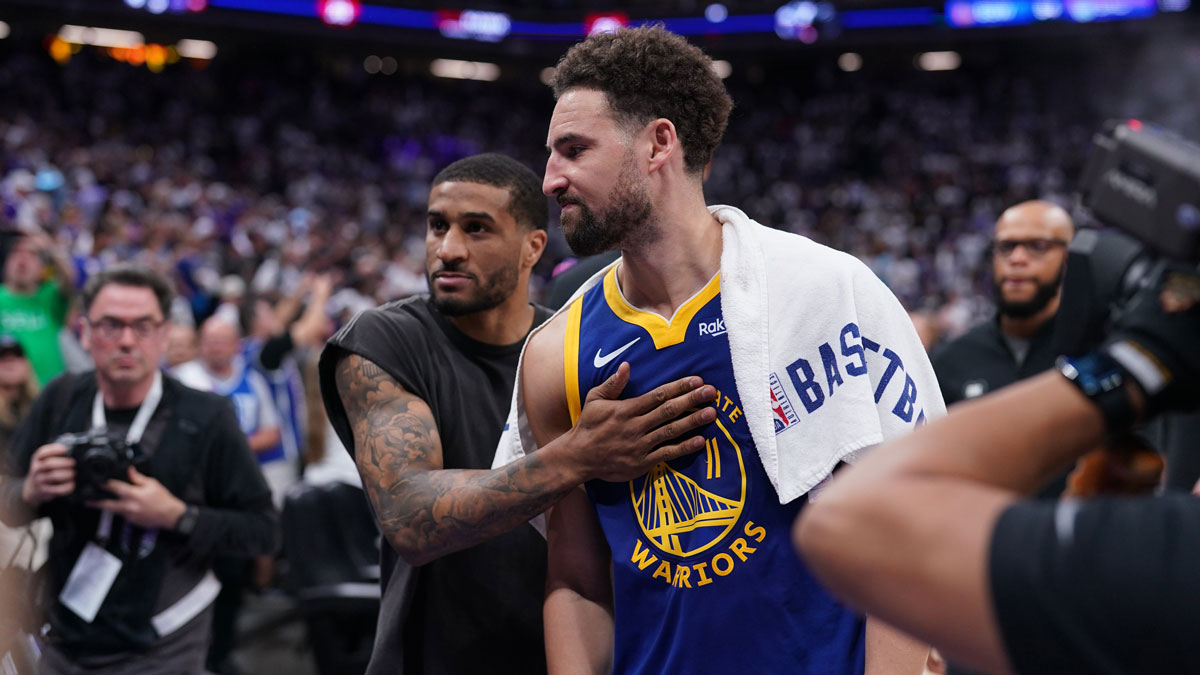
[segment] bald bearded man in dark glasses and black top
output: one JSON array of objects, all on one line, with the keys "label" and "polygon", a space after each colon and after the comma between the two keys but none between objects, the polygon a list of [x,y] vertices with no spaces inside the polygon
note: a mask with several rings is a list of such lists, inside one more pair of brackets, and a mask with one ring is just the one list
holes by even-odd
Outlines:
[{"label": "bald bearded man in dark glasses and black top", "polygon": [[[1052,319],[1074,232],[1070,215],[1050,202],[1022,202],[1001,214],[991,246],[996,316],[932,354],[947,406],[1054,366]],[[1057,494],[1060,482],[1046,490]]]}]

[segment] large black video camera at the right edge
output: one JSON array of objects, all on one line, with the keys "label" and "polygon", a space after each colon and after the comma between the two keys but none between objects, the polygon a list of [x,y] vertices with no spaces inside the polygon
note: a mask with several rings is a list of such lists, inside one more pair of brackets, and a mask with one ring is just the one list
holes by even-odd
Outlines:
[{"label": "large black video camera at the right edge", "polygon": [[1115,229],[1080,229],[1068,249],[1055,347],[1073,357],[1100,345],[1114,313],[1165,262],[1200,276],[1200,145],[1138,120],[1109,123],[1093,138],[1080,196]]}]

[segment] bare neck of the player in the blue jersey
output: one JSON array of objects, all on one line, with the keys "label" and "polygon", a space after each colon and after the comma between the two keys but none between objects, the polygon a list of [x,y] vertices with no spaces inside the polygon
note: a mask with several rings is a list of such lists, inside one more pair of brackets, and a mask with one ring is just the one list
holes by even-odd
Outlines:
[{"label": "bare neck of the player in the blue jersey", "polygon": [[660,215],[655,227],[650,244],[622,251],[617,282],[634,306],[673,316],[721,268],[721,223],[700,201],[698,208]]}]

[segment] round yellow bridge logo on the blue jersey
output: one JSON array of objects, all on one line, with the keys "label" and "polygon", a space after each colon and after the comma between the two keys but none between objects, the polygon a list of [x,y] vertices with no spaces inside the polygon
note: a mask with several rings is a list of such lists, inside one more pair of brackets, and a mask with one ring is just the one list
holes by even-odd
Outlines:
[{"label": "round yellow bridge logo on the blue jersey", "polygon": [[[634,512],[642,533],[665,552],[690,556],[715,545],[738,522],[746,496],[745,462],[742,460],[742,448],[733,441],[725,425],[716,422],[721,434],[706,443],[707,470],[704,482],[721,478],[721,456],[737,458],[740,478],[740,490],[737,498],[719,495],[701,488],[696,480],[671,468],[666,462],[658,464],[649,473],[629,482],[630,496],[634,500]],[[732,455],[732,456],[731,456]],[[728,482],[725,482],[728,484]],[[728,490],[728,488],[727,488]],[[700,532],[700,537],[686,534]],[[680,536],[684,536],[680,539]],[[685,544],[684,540],[690,542]],[[692,545],[694,543],[694,545]],[[686,548],[685,546],[690,546]]]}]

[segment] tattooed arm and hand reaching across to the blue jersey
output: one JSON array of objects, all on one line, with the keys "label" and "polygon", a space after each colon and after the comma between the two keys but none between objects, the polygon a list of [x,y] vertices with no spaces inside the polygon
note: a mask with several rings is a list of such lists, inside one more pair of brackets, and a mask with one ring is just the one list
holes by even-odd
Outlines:
[{"label": "tattooed arm and hand reaching across to the blue jersey", "polygon": [[644,472],[662,456],[695,452],[691,440],[659,446],[703,424],[698,412],[677,418],[713,395],[712,387],[686,378],[653,396],[601,401],[570,437],[520,461],[490,471],[446,470],[424,400],[358,354],[338,362],[336,381],[379,526],[413,565],[508,532],[586,480],[613,471]]}]

